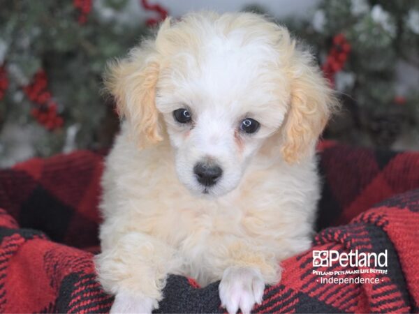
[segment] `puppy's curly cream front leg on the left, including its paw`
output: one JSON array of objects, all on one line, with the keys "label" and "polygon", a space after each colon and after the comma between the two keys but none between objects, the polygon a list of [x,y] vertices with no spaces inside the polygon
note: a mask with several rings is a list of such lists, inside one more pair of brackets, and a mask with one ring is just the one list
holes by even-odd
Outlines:
[{"label": "puppy's curly cream front leg on the left, including its paw", "polygon": [[111,313],[152,313],[162,299],[174,250],[147,234],[129,232],[96,255],[98,280],[115,294]]}]

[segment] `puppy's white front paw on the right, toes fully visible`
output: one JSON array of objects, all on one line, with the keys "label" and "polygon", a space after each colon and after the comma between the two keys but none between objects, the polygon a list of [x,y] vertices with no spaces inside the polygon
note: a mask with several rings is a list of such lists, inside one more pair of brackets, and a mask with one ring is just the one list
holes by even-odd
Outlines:
[{"label": "puppy's white front paw on the right, toes fully visible", "polygon": [[262,303],[264,289],[265,283],[258,269],[228,267],[219,285],[221,306],[230,314],[237,313],[239,308],[243,314],[248,314],[256,303]]}]

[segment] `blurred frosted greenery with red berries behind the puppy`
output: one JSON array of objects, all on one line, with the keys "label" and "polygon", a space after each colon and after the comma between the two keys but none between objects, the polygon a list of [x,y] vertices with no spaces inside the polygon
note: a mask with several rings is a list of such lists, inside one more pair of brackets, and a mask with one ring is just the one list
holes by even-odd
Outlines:
[{"label": "blurred frosted greenery with red berries behind the puppy", "polygon": [[[147,21],[126,17],[132,2],[0,0],[1,166],[110,146],[118,119],[101,96],[103,68],[149,32]],[[164,15],[154,10],[148,24]],[[344,110],[325,137],[419,149],[418,0],[323,0],[307,17],[277,22],[312,47],[341,95]]]}]

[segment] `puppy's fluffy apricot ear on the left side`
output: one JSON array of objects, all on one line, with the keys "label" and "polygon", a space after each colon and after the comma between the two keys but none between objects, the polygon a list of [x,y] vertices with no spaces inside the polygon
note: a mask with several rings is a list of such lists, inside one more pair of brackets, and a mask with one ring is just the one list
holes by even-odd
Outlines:
[{"label": "puppy's fluffy apricot ear on the left side", "polygon": [[109,63],[104,76],[120,117],[126,118],[133,139],[141,147],[163,140],[155,104],[159,70],[153,43],[146,41],[131,50],[126,59]]}]

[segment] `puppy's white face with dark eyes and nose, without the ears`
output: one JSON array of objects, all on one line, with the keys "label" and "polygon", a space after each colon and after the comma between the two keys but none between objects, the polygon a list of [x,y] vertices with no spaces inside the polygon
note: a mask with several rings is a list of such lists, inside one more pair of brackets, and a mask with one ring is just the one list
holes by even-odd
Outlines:
[{"label": "puppy's white face with dark eyes and nose, without the ears", "polygon": [[288,108],[276,54],[234,39],[183,50],[161,71],[156,107],[175,151],[179,180],[196,194],[223,195],[276,132]]}]

